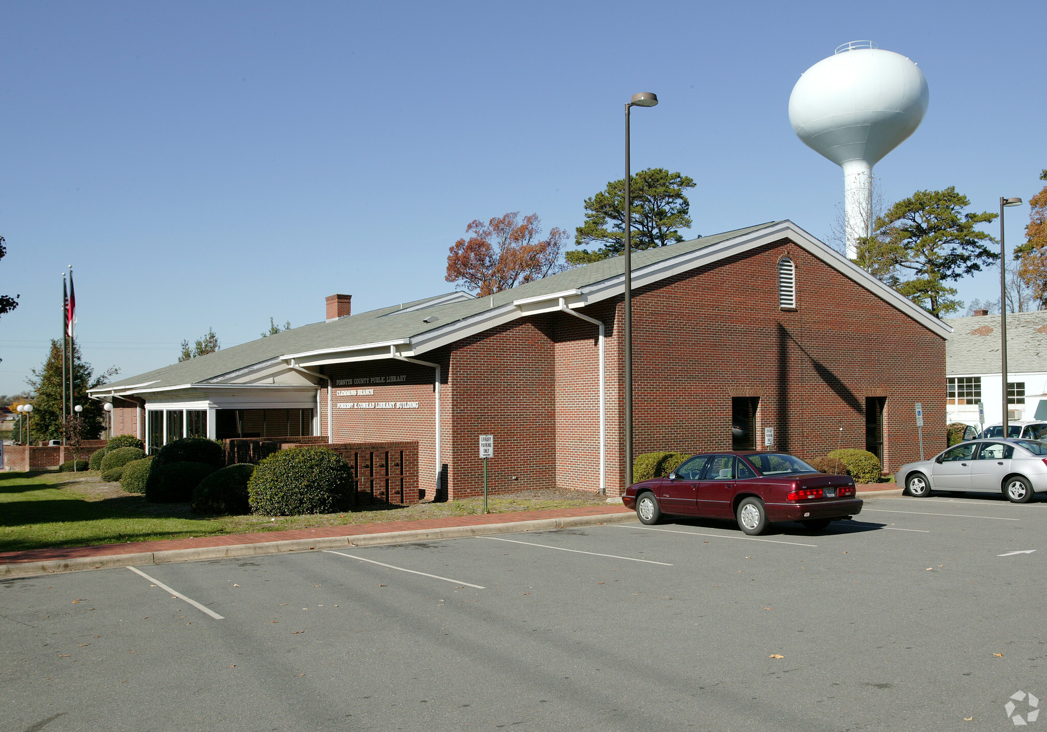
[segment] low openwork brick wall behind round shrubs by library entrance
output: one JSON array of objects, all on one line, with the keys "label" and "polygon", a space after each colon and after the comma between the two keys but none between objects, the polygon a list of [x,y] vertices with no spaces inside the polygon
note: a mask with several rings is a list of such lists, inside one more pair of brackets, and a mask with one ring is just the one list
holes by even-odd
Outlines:
[{"label": "low openwork brick wall behind round shrubs by library entrance", "polygon": [[365,442],[329,444],[326,437],[237,438],[223,440],[226,465],[258,464],[276,450],[322,445],[353,468],[357,501],[416,504],[425,495],[418,488],[417,442]]}]

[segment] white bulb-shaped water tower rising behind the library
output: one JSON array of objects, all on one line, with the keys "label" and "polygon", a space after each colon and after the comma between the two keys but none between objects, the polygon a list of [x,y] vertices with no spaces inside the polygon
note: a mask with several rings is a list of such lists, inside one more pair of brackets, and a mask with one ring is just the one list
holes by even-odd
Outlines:
[{"label": "white bulb-shaped water tower rising behind the library", "polygon": [[804,145],[844,169],[847,257],[870,232],[872,167],[916,131],[927,79],[915,63],[871,41],[854,41],[803,72],[788,118]]}]

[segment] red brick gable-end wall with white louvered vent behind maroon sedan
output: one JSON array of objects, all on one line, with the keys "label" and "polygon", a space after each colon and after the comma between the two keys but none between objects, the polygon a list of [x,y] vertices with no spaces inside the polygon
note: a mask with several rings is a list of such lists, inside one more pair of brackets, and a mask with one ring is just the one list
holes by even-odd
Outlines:
[{"label": "red brick gable-end wall with white louvered vent behind maroon sedan", "polygon": [[[792,312],[778,306],[786,254]],[[927,424],[945,423],[945,341],[790,242],[663,281],[633,304],[636,453],[729,449],[732,396],[760,398],[760,443],[774,427],[774,447],[804,458],[865,449],[866,397],[885,396],[887,469],[919,457],[913,402]],[[933,452],[944,429],[923,439]]]}]

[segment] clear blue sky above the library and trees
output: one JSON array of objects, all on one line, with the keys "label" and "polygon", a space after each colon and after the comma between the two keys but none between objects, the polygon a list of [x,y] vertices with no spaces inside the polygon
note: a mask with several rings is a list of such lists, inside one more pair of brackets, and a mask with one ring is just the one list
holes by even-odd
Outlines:
[{"label": "clear blue sky above the library and trees", "polygon": [[[797,8],[800,9],[797,9]],[[0,393],[60,333],[133,376],[214,328],[449,291],[473,219],[537,213],[573,232],[633,170],[692,176],[694,228],[788,218],[826,238],[839,168],[788,124],[800,74],[871,39],[916,61],[931,104],[876,165],[890,202],[956,185],[978,210],[1047,168],[1042,2],[4,3]],[[1007,212],[1021,240],[1028,207]],[[998,231],[996,224],[988,230]],[[997,270],[959,283],[994,296]]]}]

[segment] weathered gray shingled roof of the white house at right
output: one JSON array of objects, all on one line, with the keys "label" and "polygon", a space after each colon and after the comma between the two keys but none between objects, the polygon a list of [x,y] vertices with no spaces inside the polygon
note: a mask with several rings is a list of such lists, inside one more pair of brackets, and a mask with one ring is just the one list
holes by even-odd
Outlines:
[{"label": "weathered gray shingled roof of the white house at right", "polygon": [[[945,373],[1000,373],[1000,316],[945,320],[956,331],[945,341]],[[1047,310],[1007,314],[1007,371],[1047,371]]]}]

